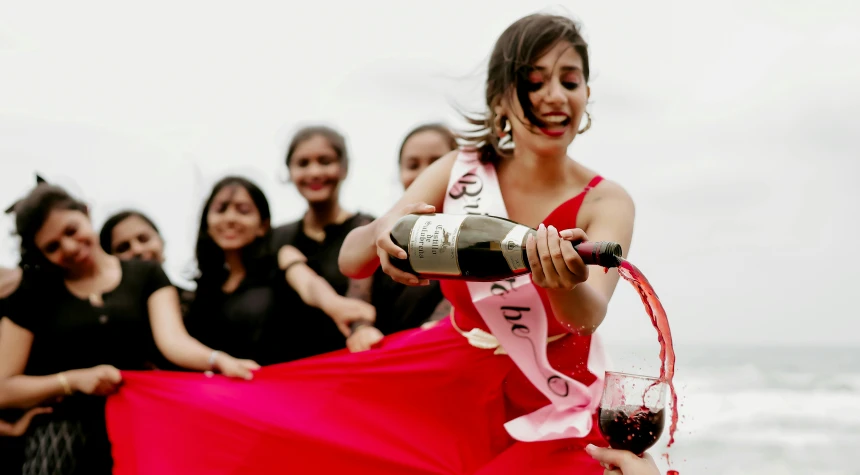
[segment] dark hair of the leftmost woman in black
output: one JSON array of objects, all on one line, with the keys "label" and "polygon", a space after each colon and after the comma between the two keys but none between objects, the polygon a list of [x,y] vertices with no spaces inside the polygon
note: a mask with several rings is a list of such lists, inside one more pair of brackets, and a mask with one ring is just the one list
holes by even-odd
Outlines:
[{"label": "dark hair of the leftmost woman in black", "polygon": [[88,214],[87,205],[66,190],[39,180],[35,188],[7,211],[15,213],[15,232],[21,238],[21,268],[40,274],[60,274],[62,270],[48,261],[36,245],[36,233],[55,210]]}]

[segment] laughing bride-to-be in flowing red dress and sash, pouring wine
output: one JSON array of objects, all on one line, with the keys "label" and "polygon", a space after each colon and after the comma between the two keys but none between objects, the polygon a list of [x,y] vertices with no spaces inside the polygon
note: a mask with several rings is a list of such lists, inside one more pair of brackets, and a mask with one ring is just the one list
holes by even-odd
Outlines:
[{"label": "laughing bride-to-be in flowing red dress and sash, pouring wine", "polygon": [[[108,407],[115,473],[602,473],[584,448],[605,446],[594,331],[618,274],[589,273],[569,241],[627,250],[634,210],[619,185],[567,156],[590,126],[588,77],[572,21],[515,22],[490,59],[475,146],[437,160],[392,211],[352,231],[340,255],[349,277],[381,263],[415,285],[390,264],[400,254],[392,224],[409,212],[477,212],[539,229],[527,247],[531,274],[444,282],[454,311],[438,325],[370,351],[264,367],[249,382],[127,374]],[[511,318],[529,331],[513,333]]]}]

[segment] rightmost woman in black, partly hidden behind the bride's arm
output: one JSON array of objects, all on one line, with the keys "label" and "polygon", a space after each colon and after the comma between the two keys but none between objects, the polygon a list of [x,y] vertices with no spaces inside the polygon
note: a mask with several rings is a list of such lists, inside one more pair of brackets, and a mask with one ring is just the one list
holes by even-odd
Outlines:
[{"label": "rightmost woman in black, partly hidden behind the bride's arm", "polygon": [[[456,148],[456,137],[443,124],[423,124],[411,130],[403,139],[398,156],[403,189],[409,188],[431,163]],[[371,302],[376,307],[374,326],[385,335],[433,324],[451,311],[438,281],[410,287],[395,282],[380,268],[373,275],[372,289]],[[356,338],[362,333],[364,330],[356,329]]]}]

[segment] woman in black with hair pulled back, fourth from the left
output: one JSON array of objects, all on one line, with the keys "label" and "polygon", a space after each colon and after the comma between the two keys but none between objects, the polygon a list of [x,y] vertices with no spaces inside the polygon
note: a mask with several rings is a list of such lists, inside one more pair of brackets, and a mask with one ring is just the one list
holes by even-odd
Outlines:
[{"label": "woman in black with hair pulled back, fourth from the left", "polygon": [[[346,140],[336,130],[325,126],[311,126],[300,129],[293,136],[286,156],[290,180],[299,194],[307,201],[305,215],[292,223],[273,230],[272,243],[275,249],[290,245],[307,258],[307,265],[320,277],[328,281],[335,292],[341,296],[363,296],[349,298],[361,305],[369,302],[370,279],[351,281],[337,265],[337,257],[343,240],[350,231],[373,221],[373,217],[363,213],[352,213],[340,204],[340,187],[346,179],[349,154]],[[363,300],[363,301],[362,301]],[[366,307],[375,315],[373,307]],[[303,342],[303,353],[307,356],[344,348],[349,344],[351,350],[367,349],[356,345],[359,340],[345,338],[343,331],[330,321],[313,317],[318,311],[306,308],[307,322],[315,322],[307,328],[308,335]],[[368,318],[368,321],[373,321]],[[382,335],[379,334],[379,338]]]}]

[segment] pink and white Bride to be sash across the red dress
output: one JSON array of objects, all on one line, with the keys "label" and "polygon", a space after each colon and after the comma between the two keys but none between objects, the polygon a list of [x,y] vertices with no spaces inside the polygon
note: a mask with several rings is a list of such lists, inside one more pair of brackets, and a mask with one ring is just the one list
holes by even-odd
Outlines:
[{"label": "pink and white Bride to be sash across the red dress", "polygon": [[[495,167],[476,153],[461,152],[451,170],[445,214],[486,214],[507,218]],[[547,314],[531,274],[499,282],[468,282],[472,301],[487,327],[528,380],[551,404],[505,424],[516,440],[534,442],[581,438],[591,432],[592,414],[603,392],[605,354],[593,334],[590,386],[556,371],[547,360]]]}]

